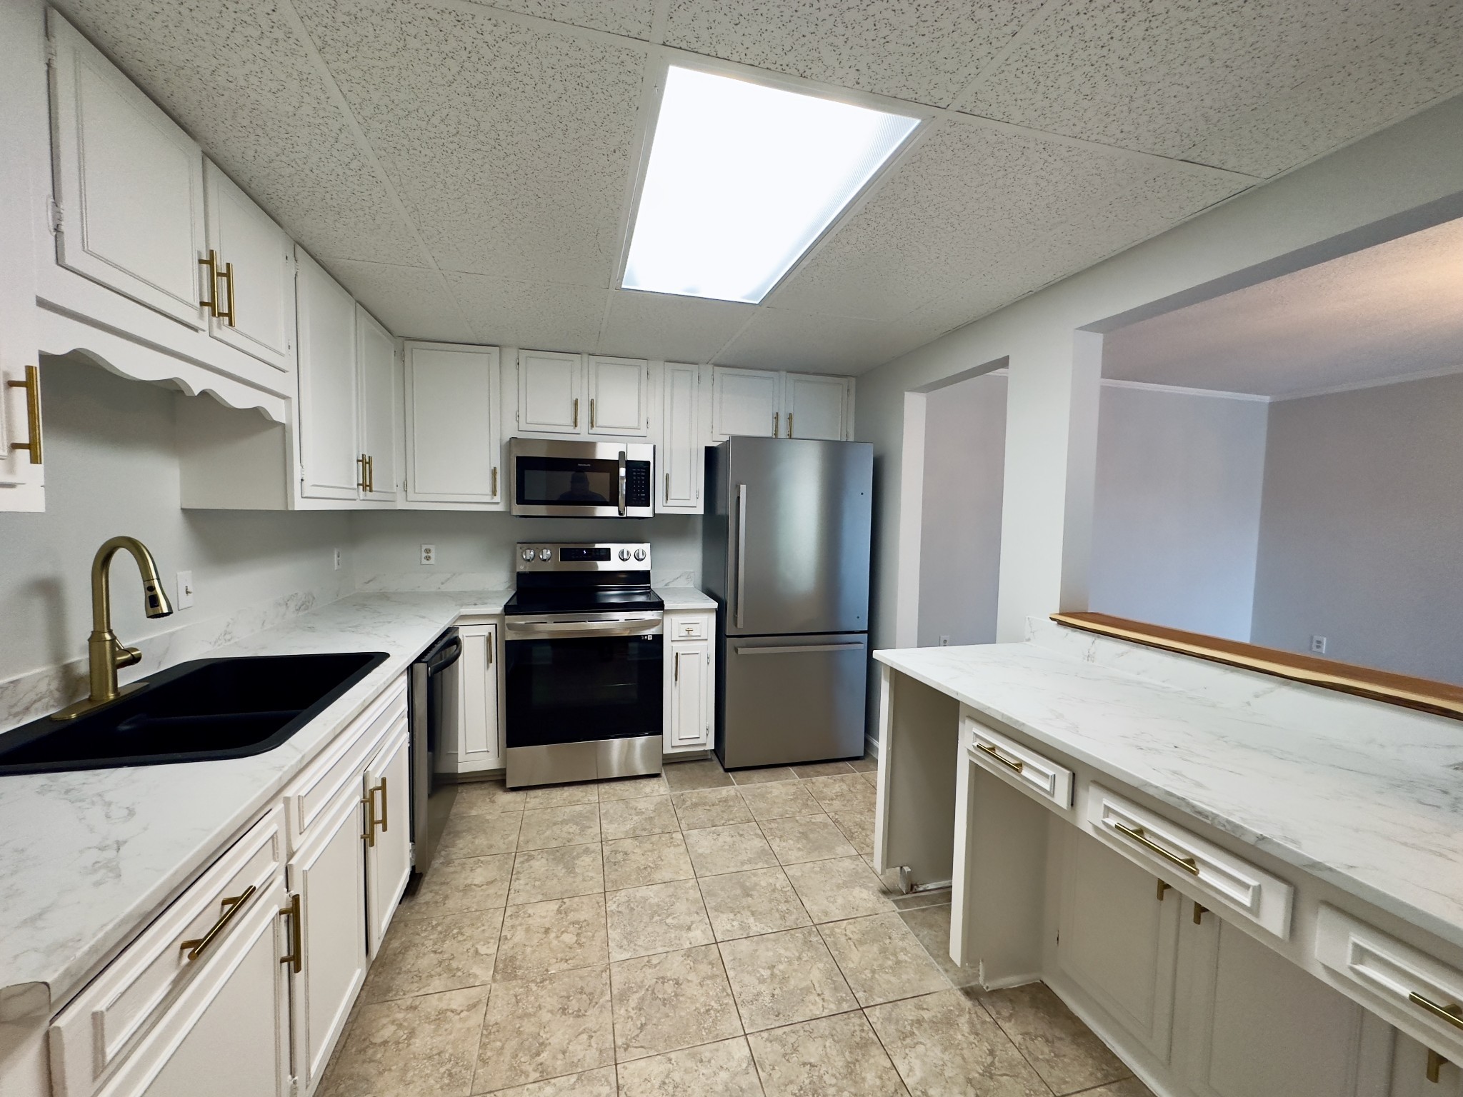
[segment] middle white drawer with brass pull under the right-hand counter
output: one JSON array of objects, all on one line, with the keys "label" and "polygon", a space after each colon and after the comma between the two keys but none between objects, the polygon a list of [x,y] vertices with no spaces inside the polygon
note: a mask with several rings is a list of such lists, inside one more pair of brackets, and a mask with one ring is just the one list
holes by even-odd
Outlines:
[{"label": "middle white drawer with brass pull under the right-hand counter", "polygon": [[1295,888],[1279,876],[1100,785],[1091,785],[1087,797],[1087,829],[1185,895],[1248,919],[1282,940],[1290,938]]}]

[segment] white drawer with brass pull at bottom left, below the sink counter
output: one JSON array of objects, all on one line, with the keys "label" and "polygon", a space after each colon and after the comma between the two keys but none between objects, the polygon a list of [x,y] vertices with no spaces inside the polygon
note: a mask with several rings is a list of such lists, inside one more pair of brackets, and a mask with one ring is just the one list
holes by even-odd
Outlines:
[{"label": "white drawer with brass pull at bottom left, below the sink counter", "polygon": [[231,930],[260,902],[278,901],[271,882],[284,864],[282,816],[272,807],[249,828],[57,1015],[50,1036],[57,1097],[92,1093]]}]

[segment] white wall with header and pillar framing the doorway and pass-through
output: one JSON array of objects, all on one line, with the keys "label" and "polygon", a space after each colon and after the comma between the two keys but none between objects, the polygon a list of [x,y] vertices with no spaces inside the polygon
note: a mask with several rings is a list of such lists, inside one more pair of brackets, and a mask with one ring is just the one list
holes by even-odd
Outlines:
[{"label": "white wall with header and pillar framing the doorway and pass-through", "polygon": [[[1064,608],[1064,563],[1068,591],[1084,589],[1090,529],[1077,527],[1091,505],[1097,366],[1084,355],[1077,367],[1075,329],[1350,250],[1333,238],[1463,193],[1460,136],[1463,98],[1454,98],[859,377],[857,436],[875,446],[873,646],[891,646],[897,617],[906,391],[1009,360],[998,635],[1020,639],[1028,614]],[[1299,249],[1312,249],[1304,262],[1290,255]]]}]

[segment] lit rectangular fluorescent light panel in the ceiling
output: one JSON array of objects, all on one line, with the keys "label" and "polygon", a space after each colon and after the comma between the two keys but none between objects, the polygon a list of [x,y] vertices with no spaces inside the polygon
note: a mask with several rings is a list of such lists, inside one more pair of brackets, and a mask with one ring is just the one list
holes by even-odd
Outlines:
[{"label": "lit rectangular fluorescent light panel in the ceiling", "polygon": [[756,304],[917,124],[672,66],[620,284]]}]

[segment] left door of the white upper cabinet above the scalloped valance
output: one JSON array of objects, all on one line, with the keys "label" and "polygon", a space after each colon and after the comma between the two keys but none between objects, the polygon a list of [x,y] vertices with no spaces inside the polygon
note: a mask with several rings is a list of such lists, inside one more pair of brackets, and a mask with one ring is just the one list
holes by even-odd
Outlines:
[{"label": "left door of the white upper cabinet above the scalloped valance", "polygon": [[47,31],[57,262],[202,329],[202,151],[54,10]]}]

